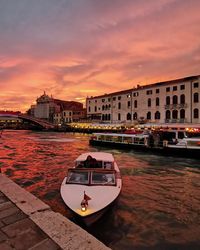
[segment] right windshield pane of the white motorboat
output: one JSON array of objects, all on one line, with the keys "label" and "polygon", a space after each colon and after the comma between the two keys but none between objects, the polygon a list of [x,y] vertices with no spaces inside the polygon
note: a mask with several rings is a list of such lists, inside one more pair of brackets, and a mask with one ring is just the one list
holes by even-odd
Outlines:
[{"label": "right windshield pane of the white motorboat", "polygon": [[115,185],[115,174],[114,173],[103,173],[93,171],[91,176],[91,184],[95,185]]}]

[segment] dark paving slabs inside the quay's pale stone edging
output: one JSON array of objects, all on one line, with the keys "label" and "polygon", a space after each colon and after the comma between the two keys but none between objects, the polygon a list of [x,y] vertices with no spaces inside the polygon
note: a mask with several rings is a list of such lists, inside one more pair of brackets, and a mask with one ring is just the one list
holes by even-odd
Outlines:
[{"label": "dark paving slabs inside the quay's pale stone edging", "polygon": [[1,250],[59,250],[61,249],[8,197],[0,192]]}]

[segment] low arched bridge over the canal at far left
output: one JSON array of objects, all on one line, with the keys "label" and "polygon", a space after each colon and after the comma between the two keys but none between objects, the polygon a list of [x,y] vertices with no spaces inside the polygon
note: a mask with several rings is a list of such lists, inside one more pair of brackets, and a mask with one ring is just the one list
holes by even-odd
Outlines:
[{"label": "low arched bridge over the canal at far left", "polygon": [[29,121],[33,124],[39,125],[43,129],[55,128],[55,126],[50,122],[47,122],[47,121],[39,119],[39,118],[35,118],[33,116],[25,115],[25,114],[22,114],[20,112],[0,112],[0,117],[18,118],[18,119],[21,119],[24,121]]}]

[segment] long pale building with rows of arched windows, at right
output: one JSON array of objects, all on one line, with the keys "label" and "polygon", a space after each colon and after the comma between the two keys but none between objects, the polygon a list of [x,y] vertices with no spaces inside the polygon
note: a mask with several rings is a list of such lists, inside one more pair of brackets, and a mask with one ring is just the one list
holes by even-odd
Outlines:
[{"label": "long pale building with rows of arched windows, at right", "polygon": [[200,75],[90,97],[86,108],[106,123],[200,123]]}]

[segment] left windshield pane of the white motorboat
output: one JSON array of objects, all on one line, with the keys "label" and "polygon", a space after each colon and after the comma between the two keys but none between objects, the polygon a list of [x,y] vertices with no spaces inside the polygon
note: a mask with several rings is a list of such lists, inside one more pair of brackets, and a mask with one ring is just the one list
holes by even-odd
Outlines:
[{"label": "left windshield pane of the white motorboat", "polygon": [[69,170],[67,183],[89,184],[89,173],[87,171]]}]

